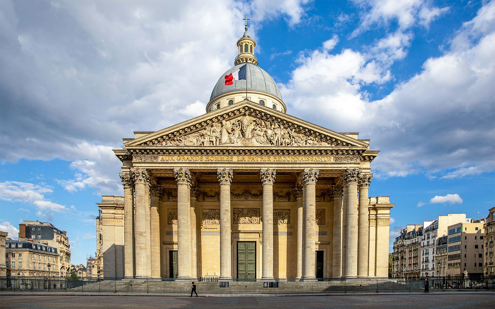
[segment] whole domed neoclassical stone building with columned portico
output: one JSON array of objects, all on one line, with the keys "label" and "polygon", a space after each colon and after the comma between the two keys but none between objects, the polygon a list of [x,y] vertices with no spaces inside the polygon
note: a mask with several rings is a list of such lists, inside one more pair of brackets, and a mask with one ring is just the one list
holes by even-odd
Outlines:
[{"label": "whole domed neoclassical stone building with columned portico", "polygon": [[388,276],[388,196],[368,196],[378,151],[286,113],[255,41],[237,42],[206,113],[114,150],[124,196],[103,196],[105,277]]}]

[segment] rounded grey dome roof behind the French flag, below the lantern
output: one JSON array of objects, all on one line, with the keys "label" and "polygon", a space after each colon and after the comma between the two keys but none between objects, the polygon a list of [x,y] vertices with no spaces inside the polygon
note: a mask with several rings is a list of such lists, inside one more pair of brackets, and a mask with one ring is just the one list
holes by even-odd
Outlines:
[{"label": "rounded grey dome roof behind the French flag, below the lantern", "polygon": [[[247,64],[247,70],[246,70],[247,80],[239,80],[239,81],[235,80],[234,84],[226,86],[224,76],[229,75],[230,73],[234,72],[235,70],[239,69],[245,64]],[[275,81],[270,76],[270,74],[266,73],[265,70],[261,69],[254,63],[242,62],[234,66],[233,68],[227,70],[227,72],[225,72],[218,79],[218,82],[213,88],[213,91],[211,91],[210,101],[215,97],[227,92],[246,90],[246,83],[247,83],[247,91],[254,90],[254,91],[269,93],[282,100],[282,94],[280,94],[280,90],[277,87],[277,84],[275,84]]]}]

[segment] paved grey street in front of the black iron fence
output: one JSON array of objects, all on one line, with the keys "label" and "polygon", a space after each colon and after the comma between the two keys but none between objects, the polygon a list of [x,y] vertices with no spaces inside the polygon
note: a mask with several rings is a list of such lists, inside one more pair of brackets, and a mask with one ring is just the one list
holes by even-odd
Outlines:
[{"label": "paved grey street in front of the black iron fence", "polygon": [[308,296],[125,296],[125,295],[1,295],[1,308],[195,308],[195,309],[258,309],[258,308],[493,308],[495,294],[424,294],[395,295],[308,295]]}]

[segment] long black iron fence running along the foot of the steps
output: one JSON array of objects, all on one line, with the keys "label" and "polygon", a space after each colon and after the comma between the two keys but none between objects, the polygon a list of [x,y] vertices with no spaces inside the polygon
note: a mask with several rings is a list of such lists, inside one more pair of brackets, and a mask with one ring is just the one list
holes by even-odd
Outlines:
[{"label": "long black iron fence running along the foot of the steps", "polygon": [[[99,278],[99,277],[0,277],[1,291],[90,292],[90,293],[164,293],[188,294],[191,281],[199,294],[332,294],[423,292],[425,277],[416,278],[291,278],[231,279],[218,278]],[[495,291],[495,276],[428,277],[430,292]]]}]

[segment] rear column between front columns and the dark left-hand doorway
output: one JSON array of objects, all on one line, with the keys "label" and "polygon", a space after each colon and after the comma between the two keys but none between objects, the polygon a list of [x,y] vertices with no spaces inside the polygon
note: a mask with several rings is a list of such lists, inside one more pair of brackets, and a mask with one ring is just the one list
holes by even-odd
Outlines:
[{"label": "rear column between front columns and the dark left-hand doorway", "polygon": [[158,184],[149,186],[150,194],[150,243],[151,243],[151,277],[160,278],[160,216],[158,215],[158,201],[163,195],[163,188]]}]

